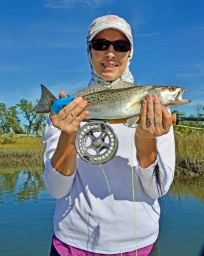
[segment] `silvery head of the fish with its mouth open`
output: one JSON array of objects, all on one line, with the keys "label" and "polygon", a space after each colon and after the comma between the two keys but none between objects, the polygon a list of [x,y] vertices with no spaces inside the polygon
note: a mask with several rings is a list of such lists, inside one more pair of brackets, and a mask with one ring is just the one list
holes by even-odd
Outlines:
[{"label": "silvery head of the fish with its mouth open", "polygon": [[157,91],[156,94],[159,96],[161,104],[167,108],[182,106],[191,102],[189,99],[182,99],[186,88],[177,86],[156,86],[154,89]]}]

